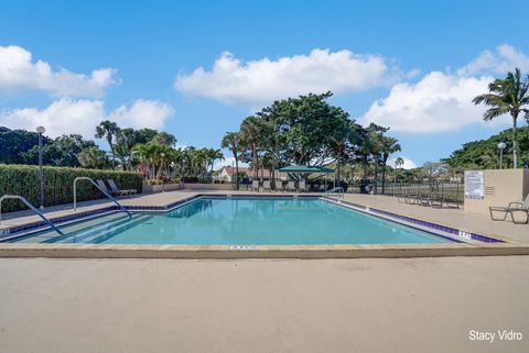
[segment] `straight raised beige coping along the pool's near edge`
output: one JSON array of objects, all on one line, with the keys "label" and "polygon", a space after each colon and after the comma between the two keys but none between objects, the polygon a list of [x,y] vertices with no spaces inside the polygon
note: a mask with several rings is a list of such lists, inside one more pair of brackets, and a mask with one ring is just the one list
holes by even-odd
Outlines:
[{"label": "straight raised beige coping along the pool's near edge", "polygon": [[529,245],[368,244],[368,245],[127,245],[1,243],[0,257],[50,258],[398,258],[529,255]]}]

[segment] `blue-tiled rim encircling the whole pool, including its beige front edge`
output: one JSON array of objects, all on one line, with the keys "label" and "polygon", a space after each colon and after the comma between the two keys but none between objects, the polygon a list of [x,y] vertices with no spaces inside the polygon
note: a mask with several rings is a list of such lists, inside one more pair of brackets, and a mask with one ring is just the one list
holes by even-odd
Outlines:
[{"label": "blue-tiled rim encircling the whole pool, including its beige front edge", "polygon": [[[127,206],[128,210],[170,211],[201,197],[208,198],[321,198],[337,206],[350,208],[367,214],[380,217],[408,227],[431,230],[438,236],[440,231],[453,234],[452,241],[461,235],[461,230],[435,224],[424,220],[393,212],[337,200],[323,195],[256,195],[256,194],[195,194],[163,206]],[[105,207],[76,214],[53,218],[60,224],[78,222],[117,211],[117,207]],[[0,234],[0,240],[22,236],[28,230],[40,231],[43,222],[32,222],[13,227],[15,233]],[[409,224],[411,223],[411,224]],[[415,225],[415,227],[413,227]],[[23,232],[22,230],[25,230]],[[17,234],[20,232],[21,234]],[[336,245],[130,245],[130,244],[31,244],[0,243],[0,257],[79,257],[79,258],[345,258],[345,257],[436,257],[436,256],[498,256],[529,255],[529,245],[511,244],[503,240],[463,232],[465,240],[443,244],[336,244]],[[465,242],[468,239],[471,242]],[[485,241],[481,240],[485,239]],[[488,240],[488,241],[487,241]],[[490,241],[492,240],[492,241]]]}]

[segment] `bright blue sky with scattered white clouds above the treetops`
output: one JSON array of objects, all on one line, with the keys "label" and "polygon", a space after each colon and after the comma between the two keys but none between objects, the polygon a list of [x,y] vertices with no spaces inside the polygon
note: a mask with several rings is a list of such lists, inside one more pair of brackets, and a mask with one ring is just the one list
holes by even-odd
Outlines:
[{"label": "bright blue sky with scattered white clouds above the treetops", "polygon": [[390,125],[419,165],[509,125],[481,122],[468,101],[515,65],[529,71],[528,11],[521,0],[2,1],[0,124],[93,139],[108,118],[218,147],[255,109],[328,89],[360,122]]}]

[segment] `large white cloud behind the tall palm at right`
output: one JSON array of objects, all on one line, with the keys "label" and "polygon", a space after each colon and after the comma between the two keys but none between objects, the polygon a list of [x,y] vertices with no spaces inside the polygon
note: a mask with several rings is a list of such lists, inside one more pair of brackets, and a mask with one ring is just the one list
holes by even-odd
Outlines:
[{"label": "large white cloud behind the tall palm at right", "polygon": [[[482,53],[456,74],[432,71],[418,82],[399,82],[389,95],[374,102],[360,122],[391,126],[391,131],[436,133],[484,123],[485,107],[472,99],[488,91],[494,75],[505,75],[515,67],[528,65],[528,57],[508,45]],[[508,123],[505,119],[500,123]]]}]

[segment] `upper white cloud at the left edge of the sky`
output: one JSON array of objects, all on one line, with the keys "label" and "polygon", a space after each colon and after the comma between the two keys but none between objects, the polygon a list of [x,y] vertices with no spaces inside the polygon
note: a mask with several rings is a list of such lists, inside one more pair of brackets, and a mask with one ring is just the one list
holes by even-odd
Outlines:
[{"label": "upper white cloud at the left edge of the sky", "polygon": [[90,75],[53,70],[46,62],[33,62],[31,53],[20,46],[0,46],[0,95],[34,90],[55,97],[101,97],[118,84],[115,76],[114,68],[99,68]]}]

